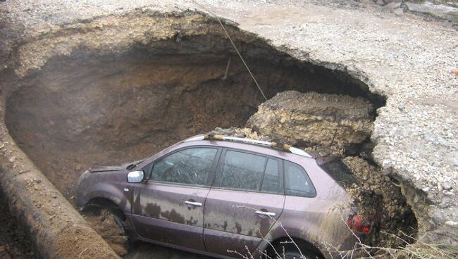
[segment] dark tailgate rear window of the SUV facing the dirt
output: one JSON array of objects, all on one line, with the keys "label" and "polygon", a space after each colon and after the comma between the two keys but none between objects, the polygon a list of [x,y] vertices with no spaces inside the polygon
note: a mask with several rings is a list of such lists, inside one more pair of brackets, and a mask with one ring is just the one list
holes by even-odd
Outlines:
[{"label": "dark tailgate rear window of the SUV facing the dirt", "polygon": [[340,159],[332,160],[320,165],[321,169],[325,170],[335,182],[338,182],[341,187],[347,189],[353,184],[357,184],[358,179],[354,176],[351,170]]}]

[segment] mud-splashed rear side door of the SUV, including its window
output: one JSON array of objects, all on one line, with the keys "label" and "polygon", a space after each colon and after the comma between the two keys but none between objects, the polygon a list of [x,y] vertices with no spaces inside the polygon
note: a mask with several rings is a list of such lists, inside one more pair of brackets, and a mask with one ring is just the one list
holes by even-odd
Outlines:
[{"label": "mud-splashed rear side door of the SUV, including its window", "polygon": [[207,251],[237,256],[256,249],[283,211],[281,168],[277,158],[233,149],[223,151],[206,198]]}]

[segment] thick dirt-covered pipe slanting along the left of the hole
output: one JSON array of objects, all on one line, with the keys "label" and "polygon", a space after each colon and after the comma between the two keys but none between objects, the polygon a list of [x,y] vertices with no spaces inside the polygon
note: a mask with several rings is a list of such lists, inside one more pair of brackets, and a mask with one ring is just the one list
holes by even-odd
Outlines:
[{"label": "thick dirt-covered pipe slanting along the left of the hole", "polygon": [[[2,111],[4,108],[1,109]],[[0,187],[43,258],[117,258],[0,126]],[[78,232],[79,237],[69,234]]]}]

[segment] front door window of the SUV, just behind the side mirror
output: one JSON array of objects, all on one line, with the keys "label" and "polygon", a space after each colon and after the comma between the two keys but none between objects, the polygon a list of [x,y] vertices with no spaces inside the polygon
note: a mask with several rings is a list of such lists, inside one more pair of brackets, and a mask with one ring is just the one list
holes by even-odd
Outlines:
[{"label": "front door window of the SUV, just behind the side mirror", "polygon": [[191,148],[156,161],[149,180],[206,185],[218,149]]}]

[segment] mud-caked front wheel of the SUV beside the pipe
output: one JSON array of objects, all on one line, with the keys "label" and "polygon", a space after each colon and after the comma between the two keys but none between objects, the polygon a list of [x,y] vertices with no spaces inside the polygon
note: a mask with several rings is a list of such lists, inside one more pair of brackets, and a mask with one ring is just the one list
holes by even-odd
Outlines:
[{"label": "mud-caked front wheel of the SUV beside the pipe", "polygon": [[128,229],[122,211],[111,206],[89,204],[81,214],[118,255],[128,253]]}]

